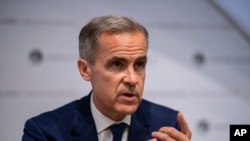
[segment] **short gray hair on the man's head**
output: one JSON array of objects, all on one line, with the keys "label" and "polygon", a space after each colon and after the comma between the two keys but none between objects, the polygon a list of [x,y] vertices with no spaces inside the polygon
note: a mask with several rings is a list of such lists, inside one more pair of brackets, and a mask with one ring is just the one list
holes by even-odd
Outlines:
[{"label": "short gray hair on the man's head", "polygon": [[81,29],[79,34],[80,58],[86,59],[89,63],[94,64],[98,39],[103,32],[119,34],[136,31],[143,34],[148,48],[147,29],[132,18],[112,15],[94,18]]}]

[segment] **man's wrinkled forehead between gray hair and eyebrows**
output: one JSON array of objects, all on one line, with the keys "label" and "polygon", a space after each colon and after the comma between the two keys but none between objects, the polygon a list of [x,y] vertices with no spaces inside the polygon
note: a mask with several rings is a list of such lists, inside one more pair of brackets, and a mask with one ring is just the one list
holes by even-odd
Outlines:
[{"label": "man's wrinkled forehead between gray hair and eyebrows", "polygon": [[141,32],[104,32],[99,38],[98,56],[145,56],[147,43]]}]

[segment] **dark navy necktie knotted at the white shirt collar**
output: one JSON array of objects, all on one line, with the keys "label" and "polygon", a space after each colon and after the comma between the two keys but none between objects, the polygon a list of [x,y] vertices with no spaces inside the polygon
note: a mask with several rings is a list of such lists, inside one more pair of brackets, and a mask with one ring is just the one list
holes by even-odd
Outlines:
[{"label": "dark navy necktie knotted at the white shirt collar", "polygon": [[122,139],[122,134],[126,128],[125,123],[119,123],[119,124],[113,124],[109,127],[113,134],[113,141],[121,141]]}]

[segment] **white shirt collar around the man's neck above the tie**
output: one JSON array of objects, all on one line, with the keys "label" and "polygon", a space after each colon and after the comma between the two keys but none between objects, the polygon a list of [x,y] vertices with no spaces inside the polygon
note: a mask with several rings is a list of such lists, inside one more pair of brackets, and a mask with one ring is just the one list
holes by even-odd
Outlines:
[{"label": "white shirt collar around the man's neck above the tie", "polygon": [[131,115],[125,116],[121,121],[114,121],[107,116],[103,115],[95,106],[93,101],[93,93],[91,94],[91,100],[90,100],[90,108],[91,112],[95,121],[97,133],[102,132],[103,130],[107,129],[110,125],[113,125],[114,123],[126,123],[128,126],[130,126],[131,121]]}]

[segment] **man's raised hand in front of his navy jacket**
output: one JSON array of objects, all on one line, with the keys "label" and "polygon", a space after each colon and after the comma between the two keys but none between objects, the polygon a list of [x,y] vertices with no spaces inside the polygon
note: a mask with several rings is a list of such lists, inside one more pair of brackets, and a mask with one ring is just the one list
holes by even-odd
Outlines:
[{"label": "man's raised hand in front of his navy jacket", "polygon": [[159,131],[152,132],[154,138],[150,141],[157,141],[157,139],[161,141],[190,141],[192,132],[182,113],[178,113],[177,120],[181,131],[178,131],[174,127],[162,127]]}]

